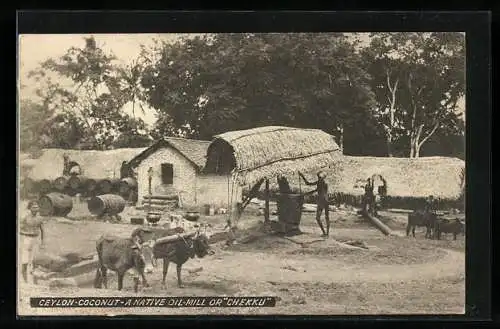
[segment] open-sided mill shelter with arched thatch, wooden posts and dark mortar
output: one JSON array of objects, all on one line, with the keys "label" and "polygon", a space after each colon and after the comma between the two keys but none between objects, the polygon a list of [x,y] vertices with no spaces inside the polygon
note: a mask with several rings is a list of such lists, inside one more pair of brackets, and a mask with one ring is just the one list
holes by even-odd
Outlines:
[{"label": "open-sided mill shelter with arched thatch, wooden posts and dark mortar", "polygon": [[289,193],[287,179],[297,176],[299,171],[332,170],[341,155],[334,137],[321,130],[268,126],[215,136],[207,150],[205,171],[230,174],[233,186],[252,186],[236,208],[236,217],[265,181],[264,217],[269,220],[270,182],[279,182],[280,230],[294,234],[299,231],[303,196]]}]

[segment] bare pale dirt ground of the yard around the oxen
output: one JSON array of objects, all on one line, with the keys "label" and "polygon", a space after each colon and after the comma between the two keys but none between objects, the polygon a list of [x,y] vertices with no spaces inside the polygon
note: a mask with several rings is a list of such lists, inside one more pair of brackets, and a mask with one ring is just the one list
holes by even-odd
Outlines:
[{"label": "bare pale dirt ground of the yard around the oxen", "polygon": [[[178,309],[85,309],[85,314],[425,314],[464,312],[465,239],[456,241],[424,239],[423,229],[417,237],[384,236],[352,212],[331,214],[332,236],[320,238],[314,214],[304,213],[301,241],[307,245],[260,234],[261,216],[250,207],[239,222],[238,236],[253,236],[247,243],[225,247],[214,245],[216,254],[192,259],[183,267],[185,288],[176,285],[175,266],[170,266],[168,287],[161,287],[161,264],[148,277],[150,288],[140,296],[276,296],[274,308],[178,308]],[[404,231],[406,216],[381,213],[386,224]],[[71,214],[70,214],[71,217]],[[78,217],[78,216],[76,216]],[[226,216],[202,218],[214,226],[223,225]],[[110,224],[95,220],[46,223],[46,251],[54,253],[91,253],[102,233],[121,236],[134,226]],[[297,238],[299,239],[299,238]],[[297,240],[295,239],[295,240]],[[360,240],[368,249],[347,249],[337,241]],[[161,263],[161,262],[160,262]],[[190,270],[202,268],[197,273]],[[89,275],[93,275],[89,274]],[[96,290],[91,284],[73,289],[50,290],[38,286],[20,289],[20,307],[31,315],[54,314],[54,310],[27,309],[29,296],[134,296],[131,280],[124,291]],[[24,305],[24,306],[23,306]],[[29,308],[29,307],[28,307]],[[59,314],[75,315],[83,310],[60,309]],[[110,313],[112,312],[112,313]]]}]

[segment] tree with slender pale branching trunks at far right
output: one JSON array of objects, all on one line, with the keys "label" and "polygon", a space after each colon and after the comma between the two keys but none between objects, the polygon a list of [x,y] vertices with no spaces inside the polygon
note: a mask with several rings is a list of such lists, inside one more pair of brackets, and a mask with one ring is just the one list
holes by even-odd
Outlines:
[{"label": "tree with slender pale branching trunks at far right", "polygon": [[409,156],[437,132],[456,130],[457,102],[465,92],[465,43],[460,33],[373,34],[363,51],[384,128],[387,153],[408,138]]}]

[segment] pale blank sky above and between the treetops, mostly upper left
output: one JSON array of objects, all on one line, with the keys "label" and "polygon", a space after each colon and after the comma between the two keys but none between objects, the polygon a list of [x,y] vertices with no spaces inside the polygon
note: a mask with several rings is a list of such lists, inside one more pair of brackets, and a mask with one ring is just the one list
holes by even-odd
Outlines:
[{"label": "pale blank sky above and between the treetops, mostly upper left", "polygon": [[[24,34],[19,36],[19,82],[26,87],[23,88],[21,98],[34,97],[34,86],[27,79],[30,71],[37,69],[41,62],[49,58],[62,56],[71,47],[82,47],[83,38],[94,36],[97,45],[106,53],[113,53],[119,63],[131,63],[140,53],[141,44],[148,47],[153,45],[154,39],[162,39],[166,42],[175,42],[183,36],[195,36],[196,34]],[[363,43],[368,43],[368,35],[359,35]],[[462,102],[460,107],[464,108]],[[132,107],[126,105],[124,111],[131,114]],[[146,109],[146,113],[136,113],[148,125],[155,120],[155,112]]]}]

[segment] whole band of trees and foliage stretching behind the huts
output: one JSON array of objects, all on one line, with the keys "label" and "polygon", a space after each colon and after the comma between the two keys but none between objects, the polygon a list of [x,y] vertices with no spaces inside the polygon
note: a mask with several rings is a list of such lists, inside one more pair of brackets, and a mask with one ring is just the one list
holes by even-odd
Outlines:
[{"label": "whole band of trees and foliage stretching behind the huts", "polygon": [[[21,149],[144,147],[152,139],[263,125],[319,128],[344,153],[463,158],[460,33],[203,35],[143,48],[129,65],[93,37],[30,74],[39,101],[21,100]],[[132,115],[124,112],[131,106]],[[148,131],[136,117],[146,107]]]}]

